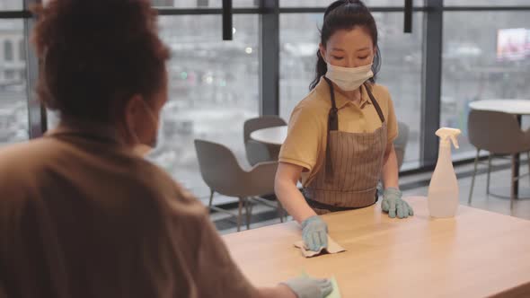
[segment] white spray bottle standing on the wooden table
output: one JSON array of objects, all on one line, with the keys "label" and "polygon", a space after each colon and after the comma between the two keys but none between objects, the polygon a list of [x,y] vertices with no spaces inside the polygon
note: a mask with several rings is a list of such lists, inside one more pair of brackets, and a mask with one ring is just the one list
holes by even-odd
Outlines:
[{"label": "white spray bottle standing on the wooden table", "polygon": [[428,186],[428,212],[432,217],[453,217],[458,208],[458,181],[456,180],[451,142],[458,149],[456,136],[460,129],[442,127],[436,135],[440,137],[437,166]]}]

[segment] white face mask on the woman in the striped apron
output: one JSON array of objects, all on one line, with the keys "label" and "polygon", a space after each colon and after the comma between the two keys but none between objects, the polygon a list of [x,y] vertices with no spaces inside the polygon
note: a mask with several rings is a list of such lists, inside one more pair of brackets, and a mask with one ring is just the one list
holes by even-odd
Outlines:
[{"label": "white face mask on the woman in the striped apron", "polygon": [[328,63],[326,77],[343,91],[353,91],[374,76],[372,65],[360,67],[331,66]]}]

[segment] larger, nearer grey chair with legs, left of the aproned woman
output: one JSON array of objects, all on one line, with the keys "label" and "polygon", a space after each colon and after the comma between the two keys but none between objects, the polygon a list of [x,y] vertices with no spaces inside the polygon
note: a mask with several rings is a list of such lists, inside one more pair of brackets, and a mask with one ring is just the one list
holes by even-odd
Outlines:
[{"label": "larger, nearer grey chair with legs, left of the aproned woman", "polygon": [[245,208],[246,225],[250,229],[252,200],[278,208],[278,215],[283,221],[283,209],[279,204],[269,205],[260,196],[274,194],[274,177],[278,162],[261,162],[250,171],[245,171],[237,162],[234,153],[224,145],[195,140],[195,150],[199,159],[202,179],[210,188],[208,207],[212,210],[233,215],[229,211],[213,206],[215,193],[239,198],[237,231],[241,231],[242,210]]}]

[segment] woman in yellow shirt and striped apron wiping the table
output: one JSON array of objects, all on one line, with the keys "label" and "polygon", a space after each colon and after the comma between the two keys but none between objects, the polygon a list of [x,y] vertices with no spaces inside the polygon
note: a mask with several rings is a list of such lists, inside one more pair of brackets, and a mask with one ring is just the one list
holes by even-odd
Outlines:
[{"label": "woman in yellow shirt and striped apron wiping the table", "polygon": [[302,224],[310,250],[327,247],[327,225],[318,215],[375,204],[380,179],[383,211],[413,215],[398,188],[397,121],[390,94],[375,83],[377,28],[365,4],[339,0],[326,9],[317,57],[311,92],[289,120],[276,176],[277,196]]}]

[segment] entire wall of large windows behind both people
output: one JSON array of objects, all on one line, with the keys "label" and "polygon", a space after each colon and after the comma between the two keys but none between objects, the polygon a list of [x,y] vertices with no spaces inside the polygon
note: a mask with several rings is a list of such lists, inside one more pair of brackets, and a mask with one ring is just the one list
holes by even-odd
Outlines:
[{"label": "entire wall of large windows behind both people", "polygon": [[[244,120],[258,116],[261,109],[274,110],[276,102],[279,115],[288,120],[293,108],[307,94],[314,78],[322,12],[332,1],[278,0],[278,69],[274,58],[261,61],[260,43],[268,42],[261,38],[276,39],[270,36],[274,31],[260,35],[261,17],[268,25],[275,20],[267,15],[271,11],[258,9],[264,3],[262,0],[233,1],[232,41],[222,40],[222,16],[218,13],[222,0],[153,0],[153,5],[163,11],[161,36],[172,49],[172,59],[168,63],[170,101],[163,110],[160,145],[152,154],[155,162],[199,197],[207,195],[208,189],[199,174],[193,145],[195,138],[228,145],[245,164]],[[22,0],[0,0],[0,11],[16,13],[22,10],[22,3]],[[271,0],[267,4],[273,3]],[[428,3],[436,7],[426,7]],[[416,7],[413,31],[406,34],[402,32],[400,8],[403,1],[365,0],[374,12],[379,29],[383,65],[377,82],[388,87],[398,120],[407,124],[411,131],[404,170],[428,165],[436,155],[436,146],[428,143],[432,140],[420,140],[422,130],[437,128],[437,123],[421,123],[419,111],[426,101],[421,97],[421,90],[426,79],[431,82],[442,72],[441,104],[439,109],[434,107],[433,112],[439,113],[439,125],[460,127],[464,132],[462,149],[455,152],[455,159],[473,155],[474,148],[466,138],[470,101],[528,99],[530,92],[527,83],[530,81],[530,24],[527,22],[530,3],[527,0],[444,0],[444,5],[450,8],[443,9],[443,23],[434,23],[440,20],[437,18],[437,4],[440,3],[413,0]],[[508,6],[508,9],[501,6]],[[319,13],[314,13],[315,7]],[[19,13],[18,20],[0,20],[0,145],[28,137],[25,74],[35,74],[35,70],[28,72],[25,63],[25,56],[32,57],[32,53],[25,52],[25,13]],[[0,15],[0,18],[3,16],[12,18],[13,13]],[[429,18],[432,28],[443,27],[443,37],[428,36],[435,41],[443,39],[441,70],[436,63],[426,68],[423,61],[426,54],[423,53],[423,30],[427,23],[423,22],[424,18]],[[266,73],[262,76],[260,63],[272,64],[264,68]],[[270,93],[274,94],[276,84],[270,83],[269,78],[276,78],[277,71],[278,98],[260,102],[261,79],[266,88],[273,88]],[[431,95],[437,94],[429,92]],[[31,115],[39,112],[38,107],[31,109]],[[57,123],[53,115],[49,115],[48,120],[49,127]],[[528,120],[524,118],[524,125],[530,124],[526,123]],[[37,118],[32,121],[39,122]],[[40,123],[31,123],[31,127],[39,128]],[[422,147],[428,152],[420,154]],[[420,160],[421,156],[425,160]]]}]

